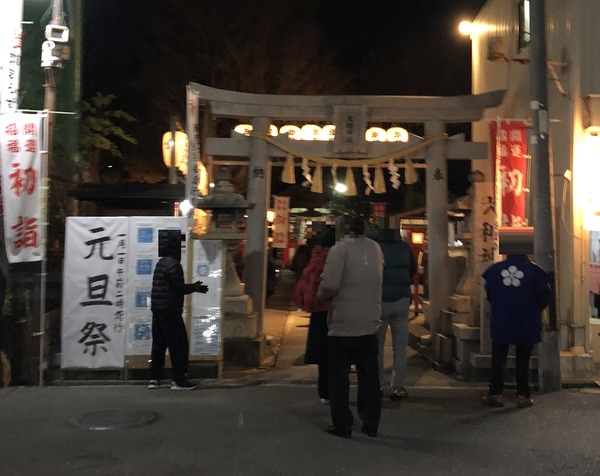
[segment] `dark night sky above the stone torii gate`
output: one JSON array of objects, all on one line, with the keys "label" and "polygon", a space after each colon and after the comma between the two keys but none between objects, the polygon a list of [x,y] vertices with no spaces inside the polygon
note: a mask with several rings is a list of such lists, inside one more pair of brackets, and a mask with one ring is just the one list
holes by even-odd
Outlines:
[{"label": "dark night sky above the stone torii gate", "polygon": [[[484,4],[85,0],[83,94],[115,94],[144,138],[126,152],[160,164],[156,144],[170,114],[185,115],[188,82],[259,93],[469,94],[470,43],[457,26]],[[308,59],[306,71],[293,72],[295,59]]]}]

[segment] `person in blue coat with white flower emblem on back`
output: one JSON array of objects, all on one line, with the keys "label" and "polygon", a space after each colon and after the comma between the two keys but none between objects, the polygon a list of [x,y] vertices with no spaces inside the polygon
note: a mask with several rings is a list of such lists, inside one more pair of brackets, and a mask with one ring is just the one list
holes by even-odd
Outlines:
[{"label": "person in blue coat with white flower emblem on back", "polygon": [[533,345],[542,340],[542,310],[552,296],[550,276],[526,255],[508,255],[483,274],[490,303],[492,368],[484,405],[504,406],[504,370],[509,345],[516,347],[517,407],[533,405],[529,360]]}]

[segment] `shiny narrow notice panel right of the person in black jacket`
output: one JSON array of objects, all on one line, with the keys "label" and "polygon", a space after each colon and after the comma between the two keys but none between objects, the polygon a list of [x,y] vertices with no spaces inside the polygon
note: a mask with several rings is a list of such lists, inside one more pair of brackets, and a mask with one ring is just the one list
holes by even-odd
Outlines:
[{"label": "shiny narrow notice panel right of the person in black jacket", "polygon": [[191,282],[202,281],[206,294],[192,294],[190,356],[221,356],[221,309],[223,300],[222,241],[193,240]]}]

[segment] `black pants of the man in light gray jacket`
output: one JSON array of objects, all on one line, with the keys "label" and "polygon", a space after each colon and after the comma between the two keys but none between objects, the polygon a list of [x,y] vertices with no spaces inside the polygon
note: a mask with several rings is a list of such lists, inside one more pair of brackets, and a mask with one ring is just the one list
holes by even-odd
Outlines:
[{"label": "black pants of the man in light gray jacket", "polygon": [[329,337],[329,407],[336,430],[348,432],[354,418],[349,406],[350,366],[356,365],[358,396],[356,408],[363,426],[377,431],[381,417],[377,334]]}]

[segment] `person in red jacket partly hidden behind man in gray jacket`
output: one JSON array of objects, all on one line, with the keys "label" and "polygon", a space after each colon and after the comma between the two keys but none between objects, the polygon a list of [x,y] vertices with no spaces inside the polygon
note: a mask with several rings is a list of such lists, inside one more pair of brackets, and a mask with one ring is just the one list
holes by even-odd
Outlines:
[{"label": "person in red jacket partly hidden behind man in gray jacket", "polygon": [[321,274],[329,248],[335,244],[335,230],[325,227],[314,240],[312,257],[304,267],[300,279],[294,287],[293,300],[303,311],[310,312],[308,335],[306,338],[305,364],[317,364],[317,390],[321,403],[329,403],[327,370],[327,313],[329,300],[317,298]]}]

